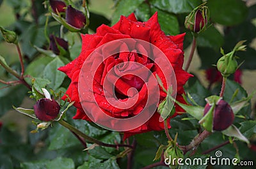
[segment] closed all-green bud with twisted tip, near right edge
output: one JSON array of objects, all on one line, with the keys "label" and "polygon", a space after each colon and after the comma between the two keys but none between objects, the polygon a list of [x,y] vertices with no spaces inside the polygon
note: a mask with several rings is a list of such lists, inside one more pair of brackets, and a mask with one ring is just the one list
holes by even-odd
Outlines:
[{"label": "closed all-green bud with twisted tip, near right edge", "polygon": [[221,75],[223,77],[230,76],[232,73],[235,73],[237,68],[239,68],[239,66],[237,65],[235,52],[239,50],[246,50],[246,45],[243,45],[244,42],[245,41],[239,41],[234,47],[234,49],[228,54],[224,54],[224,51],[221,48],[221,54],[223,54],[223,56],[218,60],[217,68],[218,71],[221,72]]}]

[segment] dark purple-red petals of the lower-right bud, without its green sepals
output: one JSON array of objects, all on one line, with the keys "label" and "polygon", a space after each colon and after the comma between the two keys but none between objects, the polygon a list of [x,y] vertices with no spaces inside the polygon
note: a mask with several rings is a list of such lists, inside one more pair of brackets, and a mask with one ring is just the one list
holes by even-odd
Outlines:
[{"label": "dark purple-red petals of the lower-right bud, without its green sepals", "polygon": [[[209,112],[211,105],[207,103],[204,108],[204,116]],[[213,131],[222,131],[227,129],[234,122],[234,113],[230,105],[223,99],[216,103],[213,110]]]}]

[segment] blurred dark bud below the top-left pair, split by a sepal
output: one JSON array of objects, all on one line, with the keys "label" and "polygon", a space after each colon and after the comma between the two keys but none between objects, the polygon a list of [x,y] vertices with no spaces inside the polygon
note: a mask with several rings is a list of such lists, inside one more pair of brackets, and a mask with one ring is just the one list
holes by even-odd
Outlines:
[{"label": "blurred dark bud below the top-left pair, split by a sepal", "polygon": [[68,51],[68,42],[63,40],[62,38],[58,38],[54,36],[53,34],[50,35],[50,47],[49,49],[54,52],[54,54],[59,55],[60,49],[59,47],[62,47],[64,50]]}]

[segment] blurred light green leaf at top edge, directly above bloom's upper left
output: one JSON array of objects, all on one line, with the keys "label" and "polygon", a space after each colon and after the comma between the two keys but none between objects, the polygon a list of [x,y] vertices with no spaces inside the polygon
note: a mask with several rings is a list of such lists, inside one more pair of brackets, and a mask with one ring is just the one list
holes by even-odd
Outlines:
[{"label": "blurred light green leaf at top edge, directly above bloom's upper left", "polygon": [[114,25],[120,19],[121,15],[130,15],[143,1],[144,0],[119,0],[115,6],[111,24]]}]

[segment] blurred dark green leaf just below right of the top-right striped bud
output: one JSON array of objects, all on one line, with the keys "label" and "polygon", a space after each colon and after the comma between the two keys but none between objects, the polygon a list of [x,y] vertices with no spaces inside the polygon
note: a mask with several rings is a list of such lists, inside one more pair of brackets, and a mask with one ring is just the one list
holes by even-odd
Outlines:
[{"label": "blurred dark green leaf just below right of the top-right striped bud", "polygon": [[199,34],[196,38],[196,43],[198,47],[211,47],[215,50],[220,50],[220,47],[224,43],[224,39],[214,26],[210,26],[204,32]]}]

